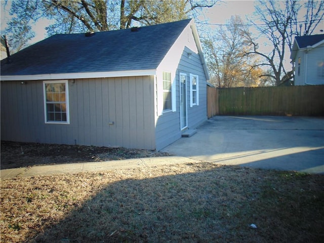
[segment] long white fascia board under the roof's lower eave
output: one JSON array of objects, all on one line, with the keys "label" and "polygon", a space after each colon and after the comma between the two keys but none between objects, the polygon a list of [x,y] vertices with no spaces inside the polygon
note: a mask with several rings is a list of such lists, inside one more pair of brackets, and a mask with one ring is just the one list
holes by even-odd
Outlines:
[{"label": "long white fascia board under the roof's lower eave", "polygon": [[2,81],[23,81],[23,80],[58,80],[77,78],[98,78],[98,77],[130,77],[155,75],[156,69],[148,70],[128,70],[113,72],[79,72],[79,73],[49,73],[36,75],[3,75]]}]

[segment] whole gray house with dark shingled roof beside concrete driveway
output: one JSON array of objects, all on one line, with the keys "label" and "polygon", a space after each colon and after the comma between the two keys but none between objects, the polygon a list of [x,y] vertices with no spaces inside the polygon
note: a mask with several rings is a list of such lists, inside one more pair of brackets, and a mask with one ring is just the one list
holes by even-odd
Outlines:
[{"label": "whole gray house with dark shingled roof beside concrete driveway", "polygon": [[1,61],[1,139],[159,150],[207,119],[208,79],[190,19],[56,34]]}]

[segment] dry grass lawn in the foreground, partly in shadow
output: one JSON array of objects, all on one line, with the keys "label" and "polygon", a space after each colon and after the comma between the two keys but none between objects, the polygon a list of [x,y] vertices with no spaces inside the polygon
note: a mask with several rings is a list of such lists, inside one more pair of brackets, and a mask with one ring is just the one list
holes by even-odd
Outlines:
[{"label": "dry grass lawn in the foreground, partly in shadow", "polygon": [[21,177],[1,242],[323,242],[323,207],[323,175],[211,163]]}]

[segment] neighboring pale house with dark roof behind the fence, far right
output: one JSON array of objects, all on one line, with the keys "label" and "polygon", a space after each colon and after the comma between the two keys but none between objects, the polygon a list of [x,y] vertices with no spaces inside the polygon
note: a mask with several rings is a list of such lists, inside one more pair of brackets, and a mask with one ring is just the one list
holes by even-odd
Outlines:
[{"label": "neighboring pale house with dark roof behind the fence, far right", "polygon": [[290,58],[295,85],[324,85],[324,34],[296,36]]}]

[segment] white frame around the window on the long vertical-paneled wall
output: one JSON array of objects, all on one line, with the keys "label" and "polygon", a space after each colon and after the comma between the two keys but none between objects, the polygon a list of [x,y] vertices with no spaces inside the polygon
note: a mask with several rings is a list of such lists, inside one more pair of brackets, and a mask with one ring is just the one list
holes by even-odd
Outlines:
[{"label": "white frame around the window on the long vertical-paneled wall", "polygon": [[[66,106],[66,121],[47,120],[47,100],[46,100],[46,84],[65,84],[65,106]],[[70,124],[70,110],[69,110],[69,88],[68,80],[47,80],[43,81],[44,94],[44,119],[45,124]]]}]

